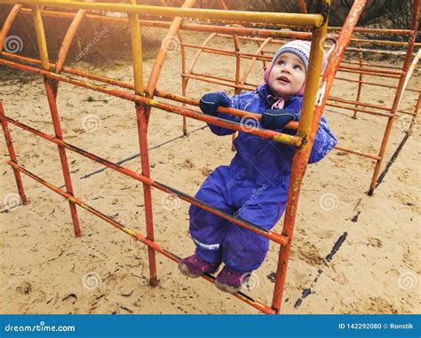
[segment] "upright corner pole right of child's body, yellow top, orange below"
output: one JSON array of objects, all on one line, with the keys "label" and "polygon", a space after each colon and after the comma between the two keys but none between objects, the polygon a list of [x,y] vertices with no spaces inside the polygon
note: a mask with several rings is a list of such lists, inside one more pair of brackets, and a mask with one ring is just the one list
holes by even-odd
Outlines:
[{"label": "upright corner pole right of child's body, yellow top, orange below", "polygon": [[[322,9],[324,10],[323,12],[329,12],[330,0],[319,1],[319,5],[322,5]],[[314,130],[312,132],[314,103],[319,86],[320,74],[322,73],[324,40],[328,30],[327,21],[328,20],[326,18],[321,28],[314,28],[313,30],[312,46],[306,76],[306,91],[303,98],[303,106],[301,108],[301,115],[297,132],[297,135],[303,138],[304,142],[303,145],[301,145],[301,147],[295,151],[292,160],[290,186],[288,190],[288,204],[285,211],[285,220],[282,230],[282,234],[288,236],[289,241],[288,244],[284,248],[281,248],[279,252],[276,279],[274,284],[274,298],[272,301],[272,308],[277,313],[279,313],[279,310],[281,310],[283,286],[285,284],[288,261],[290,259],[292,234],[297,216],[299,190],[304,174],[306,173],[306,166],[310,156],[315,134]]]}]

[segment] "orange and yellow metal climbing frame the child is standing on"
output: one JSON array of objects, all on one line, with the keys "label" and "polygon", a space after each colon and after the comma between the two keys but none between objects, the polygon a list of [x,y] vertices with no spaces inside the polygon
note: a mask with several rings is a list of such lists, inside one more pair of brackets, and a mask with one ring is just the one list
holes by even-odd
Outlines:
[{"label": "orange and yellow metal climbing frame the child is standing on", "polygon": [[[20,173],[32,177],[37,182],[49,187],[56,193],[66,198],[69,202],[70,211],[72,215],[72,221],[75,231],[75,236],[81,236],[80,225],[78,222],[77,208],[84,208],[90,211],[92,214],[99,216],[99,218],[105,220],[107,223],[112,224],[116,228],[128,233],[133,238],[143,242],[148,247],[148,260],[149,260],[149,273],[150,273],[150,284],[155,286],[157,284],[156,278],[156,263],[155,263],[155,252],[159,252],[162,255],[170,258],[175,262],[179,262],[179,256],[172,254],[165,248],[162,248],[155,242],[154,236],[154,223],[153,223],[153,210],[152,210],[152,199],[151,199],[151,188],[159,189],[165,193],[171,193],[177,195],[181,200],[186,200],[189,203],[195,204],[200,208],[206,209],[211,213],[221,216],[234,224],[244,227],[245,229],[255,232],[258,235],[264,236],[269,240],[274,240],[281,246],[278,266],[276,271],[276,279],[274,285],[274,296],[273,303],[268,306],[264,303],[260,303],[250,298],[248,295],[244,295],[241,292],[234,296],[241,299],[245,303],[249,303],[254,308],[261,310],[267,314],[278,313],[281,310],[282,303],[282,292],[285,282],[287,264],[290,257],[290,246],[292,241],[293,229],[298,208],[298,196],[300,191],[300,185],[306,172],[306,164],[311,152],[311,147],[314,142],[314,135],[319,124],[322,110],[326,105],[326,99],[329,94],[333,79],[337,72],[340,60],[344,55],[346,45],[350,42],[352,37],[353,28],[355,27],[361,11],[366,4],[367,0],[356,0],[353,4],[351,12],[346,20],[344,28],[341,30],[341,34],[338,37],[338,43],[335,50],[331,54],[330,68],[323,75],[322,81],[320,82],[319,74],[321,71],[322,63],[322,49],[324,45],[325,36],[327,34],[327,19],[330,8],[330,0],[318,1],[317,13],[316,14],[294,14],[294,13],[269,13],[269,12],[229,12],[226,11],[225,4],[222,1],[218,1],[224,10],[201,10],[193,9],[195,5],[194,0],[187,0],[181,8],[170,8],[170,7],[159,7],[159,6],[146,6],[135,4],[134,1],[131,4],[110,4],[110,3],[81,3],[81,2],[43,2],[38,0],[27,0],[27,1],[15,1],[15,0],[0,0],[0,4],[14,4],[12,11],[9,13],[8,18],[4,22],[4,27],[0,34],[0,48],[2,48],[4,39],[8,35],[9,29],[12,26],[13,20],[19,13],[24,15],[32,15],[36,26],[36,36],[39,49],[40,59],[29,59],[20,55],[7,53],[1,51],[0,65],[6,67],[12,67],[23,71],[31,72],[44,77],[44,85],[46,95],[49,102],[50,112],[52,115],[52,122],[54,126],[55,135],[48,135],[40,130],[35,130],[30,126],[13,120],[4,114],[3,106],[0,104],[0,120],[4,129],[4,137],[6,145],[10,153],[10,161],[8,164],[11,165],[18,186],[18,192],[20,193],[21,200],[24,204],[28,203],[25,196],[22,180]],[[417,1],[418,2],[418,1]],[[306,12],[303,8],[304,1],[300,0],[299,4],[303,12]],[[24,5],[29,8],[24,8]],[[46,5],[49,8],[70,8],[78,10],[77,13],[72,12],[56,12],[56,11],[44,11],[41,6]],[[110,18],[107,16],[101,16],[97,14],[91,14],[91,11],[105,11],[105,12],[121,12],[127,13],[128,19],[122,18]],[[51,63],[49,59],[49,53],[45,41],[44,26],[43,26],[43,15],[54,15],[56,17],[67,17],[72,19],[72,23],[68,28],[68,33],[65,36],[63,43],[61,44],[58,59],[55,63]],[[142,15],[142,20],[139,20],[139,15]],[[162,16],[165,18],[171,18],[172,21],[163,20],[145,20],[144,17],[147,15]],[[300,27],[305,28],[305,32],[293,32],[293,31],[266,31],[260,28],[238,28],[238,27],[224,27],[215,25],[203,25],[199,23],[185,23],[183,19],[192,18],[199,20],[215,20],[216,22],[225,21],[230,23],[241,23],[241,24],[258,24],[280,27]],[[94,75],[91,73],[84,72],[82,70],[64,66],[65,60],[68,54],[70,43],[75,37],[75,32],[80,26],[83,20],[102,20],[107,22],[123,21],[129,22],[131,29],[131,47],[133,56],[133,75],[134,83],[123,83],[112,78],[105,76]],[[214,33],[230,33],[234,35],[252,35],[253,32],[261,32],[260,36],[289,36],[289,37],[300,37],[301,35],[307,35],[308,38],[311,36],[312,48],[310,54],[309,71],[306,79],[306,92],[303,100],[303,107],[301,112],[300,121],[297,123],[290,123],[288,127],[290,129],[296,129],[296,135],[288,135],[283,133],[274,132],[272,130],[261,130],[261,129],[250,129],[244,128],[241,123],[229,122],[226,120],[218,119],[212,116],[204,115],[195,109],[187,109],[182,105],[193,105],[198,106],[198,100],[194,98],[187,98],[183,95],[177,95],[175,93],[167,92],[164,90],[156,89],[156,83],[160,75],[161,68],[166,56],[166,49],[161,47],[158,51],[155,59],[155,65],[152,68],[150,77],[148,79],[147,86],[143,85],[143,71],[142,71],[142,53],[141,53],[141,38],[140,28],[141,27],[162,27],[169,28],[166,38],[174,38],[175,35],[179,34],[179,29],[191,29],[195,31],[205,31]],[[309,31],[311,29],[311,32]],[[182,48],[185,48],[183,46]],[[251,55],[251,59],[258,59],[260,55]],[[66,74],[66,75],[63,75]],[[186,74],[186,70],[183,69],[183,74]],[[72,77],[68,76],[72,75]],[[75,76],[83,79],[76,79]],[[97,85],[88,80],[107,83],[110,86]],[[238,77],[238,80],[239,77]],[[80,86],[90,90],[97,90],[102,93],[106,93],[117,98],[123,98],[130,100],[135,103],[136,116],[138,121],[138,133],[139,133],[139,148],[140,148],[140,165],[141,173],[133,171],[131,169],[123,168],[111,161],[107,161],[93,153],[89,153],[86,150],[75,147],[63,139],[59,112],[56,106],[57,94],[59,83],[71,83],[75,86]],[[245,82],[244,82],[245,83]],[[320,86],[319,86],[319,83]],[[115,89],[114,87],[121,87],[125,90]],[[132,91],[134,90],[134,92]],[[156,99],[157,97],[158,99]],[[159,98],[168,98],[174,102],[174,104],[167,104],[159,101]],[[181,106],[178,104],[182,104]],[[240,218],[236,218],[232,215],[228,215],[210,205],[203,203],[201,200],[197,200],[192,196],[182,193],[179,190],[162,183],[156,182],[150,176],[149,159],[147,151],[147,124],[151,113],[151,108],[155,107],[173,114],[179,114],[185,117],[193,118],[203,122],[213,123],[215,125],[229,128],[232,130],[242,130],[250,132],[251,134],[257,135],[261,138],[272,139],[276,142],[281,142],[287,145],[296,146],[296,151],[292,162],[292,171],[290,176],[290,186],[288,193],[288,205],[285,213],[284,224],[282,233],[266,231],[263,228],[258,227],[256,224],[251,224]],[[257,114],[251,114],[248,112],[231,109],[231,108],[218,108],[218,111],[226,114],[234,114],[236,116],[247,116],[250,118],[258,119]],[[12,145],[12,138],[8,124],[11,123],[23,130],[35,134],[38,137],[44,138],[52,143],[58,145],[60,153],[60,163],[63,171],[63,177],[66,183],[66,190],[62,190],[50,183],[44,181],[41,177],[36,177],[27,169],[20,166],[17,161],[17,157]],[[115,169],[123,173],[126,176],[132,177],[139,180],[143,184],[144,200],[145,200],[145,213],[146,213],[146,230],[147,235],[142,236],[138,232],[134,232],[130,228],[123,224],[119,224],[115,220],[101,213],[99,210],[91,208],[78,199],[75,196],[72,181],[70,177],[70,171],[68,167],[67,151],[73,151],[79,153],[92,161],[97,161],[107,168]],[[214,277],[207,274],[203,276],[204,279],[213,282]]]}]

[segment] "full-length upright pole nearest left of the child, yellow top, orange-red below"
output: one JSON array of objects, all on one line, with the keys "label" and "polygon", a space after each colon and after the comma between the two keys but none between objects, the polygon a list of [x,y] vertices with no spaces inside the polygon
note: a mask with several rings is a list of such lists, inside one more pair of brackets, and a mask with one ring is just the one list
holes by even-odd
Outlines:
[{"label": "full-length upright pole nearest left of the child, yellow top, orange-red below", "polygon": [[[136,0],[131,0],[131,4],[136,4]],[[133,57],[133,77],[134,90],[137,95],[144,95],[143,89],[143,61],[142,61],[142,40],[139,26],[139,16],[137,14],[129,14],[129,22],[131,29],[131,52]],[[150,177],[149,153],[147,149],[147,106],[144,104],[136,104],[136,116],[138,120],[138,135],[140,148],[140,165],[142,175]],[[155,240],[154,236],[154,217],[152,211],[152,192],[151,187],[143,184],[143,198],[145,200],[145,220],[147,224],[147,239]],[[156,279],[156,257],[155,250],[150,246],[147,247],[147,255],[149,258],[149,284],[153,287],[157,285]]]}]

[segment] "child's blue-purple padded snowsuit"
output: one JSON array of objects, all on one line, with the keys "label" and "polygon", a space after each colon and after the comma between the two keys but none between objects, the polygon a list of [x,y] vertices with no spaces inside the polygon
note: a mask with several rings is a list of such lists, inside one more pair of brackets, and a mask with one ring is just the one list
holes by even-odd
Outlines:
[{"label": "child's blue-purple padded snowsuit", "polygon": [[[242,92],[229,99],[230,107],[262,114],[270,108],[267,85],[252,92]],[[301,97],[285,100],[284,109],[295,114],[298,121]],[[239,117],[216,113],[215,116],[240,122]],[[219,136],[233,134],[234,130],[209,124]],[[261,128],[261,126],[258,126]],[[281,130],[277,130],[281,131]],[[282,130],[294,133],[293,130]],[[328,123],[322,117],[314,138],[310,163],[322,158],[337,145]],[[270,230],[286,208],[292,157],[295,147],[239,132],[234,138],[236,153],[229,166],[215,169],[204,181],[195,197],[226,213],[238,216],[252,224]],[[235,271],[258,269],[266,257],[269,240],[255,232],[211,214],[203,208],[189,208],[189,231],[195,241],[196,254],[210,263],[225,263]]]}]

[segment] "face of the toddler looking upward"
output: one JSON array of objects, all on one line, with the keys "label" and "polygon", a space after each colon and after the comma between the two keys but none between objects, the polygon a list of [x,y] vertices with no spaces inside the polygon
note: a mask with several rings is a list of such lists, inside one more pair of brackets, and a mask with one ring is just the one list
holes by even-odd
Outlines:
[{"label": "face of the toddler looking upward", "polygon": [[306,81],[306,68],[297,55],[284,52],[274,62],[268,84],[282,97],[296,95]]}]

